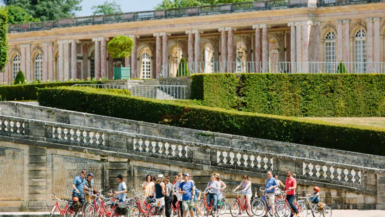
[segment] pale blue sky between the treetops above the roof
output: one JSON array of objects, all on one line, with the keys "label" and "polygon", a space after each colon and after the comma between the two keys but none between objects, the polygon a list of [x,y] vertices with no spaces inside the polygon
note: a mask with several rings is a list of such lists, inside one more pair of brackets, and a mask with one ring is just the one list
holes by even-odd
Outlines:
[{"label": "pale blue sky between the treetops above the roof", "polygon": [[[94,5],[102,5],[106,0],[83,0],[82,10],[76,12],[77,17],[92,15],[91,7]],[[108,2],[112,2],[108,0]],[[161,0],[115,0],[118,5],[121,5],[123,12],[136,12],[145,10],[154,10],[154,7],[161,2]]]}]

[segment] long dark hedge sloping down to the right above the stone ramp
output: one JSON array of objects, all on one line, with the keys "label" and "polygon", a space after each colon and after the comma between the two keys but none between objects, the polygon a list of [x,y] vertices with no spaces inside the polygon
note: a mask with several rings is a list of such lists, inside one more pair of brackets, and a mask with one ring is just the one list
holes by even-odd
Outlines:
[{"label": "long dark hedge sloping down to the right above the stone ramp", "polygon": [[39,89],[38,93],[42,106],[385,156],[383,131],[204,107],[185,101],[129,97],[102,89],[57,87]]}]

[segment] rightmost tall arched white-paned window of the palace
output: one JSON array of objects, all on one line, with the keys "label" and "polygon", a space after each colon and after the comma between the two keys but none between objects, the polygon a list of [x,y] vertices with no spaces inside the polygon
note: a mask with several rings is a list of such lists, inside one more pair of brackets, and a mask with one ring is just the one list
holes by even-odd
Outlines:
[{"label": "rightmost tall arched white-paned window of the palace", "polygon": [[366,72],[366,33],[360,29],[355,34],[354,40],[355,70],[358,73]]}]

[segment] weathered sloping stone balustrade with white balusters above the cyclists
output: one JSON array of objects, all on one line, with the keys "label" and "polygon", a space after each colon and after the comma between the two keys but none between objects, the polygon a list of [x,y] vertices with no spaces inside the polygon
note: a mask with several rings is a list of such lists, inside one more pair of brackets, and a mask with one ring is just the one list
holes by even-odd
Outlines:
[{"label": "weathered sloping stone balustrade with white balusters above the cyclists", "polygon": [[[384,169],[261,152],[246,148],[187,142],[159,136],[118,132],[78,125],[47,122],[0,115],[0,135],[54,144],[140,155],[173,163],[185,162],[213,169],[248,171],[264,174],[273,170],[284,174],[287,165],[294,165],[297,179],[320,182],[321,186],[338,185],[366,195],[377,194],[377,180]],[[165,162],[166,163],[166,162]],[[364,166],[365,165],[365,166]],[[382,178],[381,178],[382,180]]]}]

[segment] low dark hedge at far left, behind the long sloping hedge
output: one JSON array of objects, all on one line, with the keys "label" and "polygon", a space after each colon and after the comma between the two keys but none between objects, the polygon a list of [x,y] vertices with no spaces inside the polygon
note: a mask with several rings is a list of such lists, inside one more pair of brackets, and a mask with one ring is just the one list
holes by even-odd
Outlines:
[{"label": "low dark hedge at far left, behind the long sloping hedge", "polygon": [[100,81],[52,82],[0,86],[0,101],[36,100],[37,88],[72,86],[77,83],[96,84]]}]

